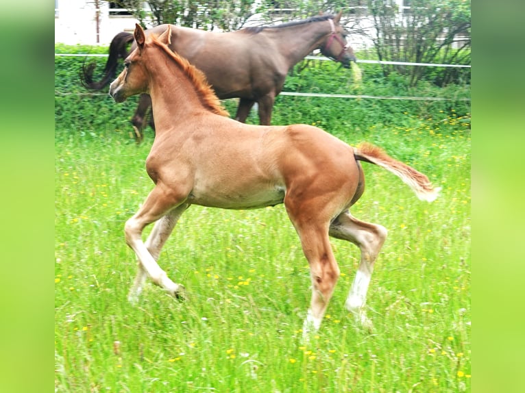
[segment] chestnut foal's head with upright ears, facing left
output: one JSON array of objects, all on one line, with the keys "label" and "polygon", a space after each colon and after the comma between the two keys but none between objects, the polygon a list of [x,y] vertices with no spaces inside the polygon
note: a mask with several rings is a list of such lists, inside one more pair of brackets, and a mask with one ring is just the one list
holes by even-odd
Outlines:
[{"label": "chestnut foal's head with upright ears, facing left", "polygon": [[[146,36],[143,28],[136,24],[134,31],[136,49],[124,60],[124,69],[120,75],[110,84],[110,96],[116,102],[123,102],[127,97],[134,94],[149,92],[149,75],[146,67],[147,59],[144,55]],[[171,29],[168,27],[158,38],[160,42],[169,45],[171,43]]]}]

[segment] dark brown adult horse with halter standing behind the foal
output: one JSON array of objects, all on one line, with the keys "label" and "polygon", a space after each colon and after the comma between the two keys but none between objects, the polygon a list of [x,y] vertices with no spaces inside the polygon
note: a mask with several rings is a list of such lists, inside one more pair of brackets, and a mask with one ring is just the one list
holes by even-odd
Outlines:
[{"label": "dark brown adult horse with halter standing behind the foal", "polygon": [[[191,64],[204,72],[219,99],[239,97],[236,120],[245,122],[249,110],[258,103],[259,122],[271,123],[271,110],[276,96],[281,92],[284,79],[297,62],[314,49],[323,55],[349,67],[356,61],[354,52],[345,40],[346,31],[339,25],[341,12],[268,27],[247,27],[229,33],[212,33],[199,29],[159,25],[145,31],[162,34],[171,27],[172,51],[179,53]],[[125,51],[130,34],[119,34],[110,47],[106,75],[100,82],[93,81],[93,65],[86,68],[84,84],[101,89],[117,68],[117,60]],[[133,43],[130,51],[135,49]],[[124,56],[125,57],[125,56]],[[142,138],[146,111],[151,99],[141,95],[138,108],[132,118],[138,140]]]}]

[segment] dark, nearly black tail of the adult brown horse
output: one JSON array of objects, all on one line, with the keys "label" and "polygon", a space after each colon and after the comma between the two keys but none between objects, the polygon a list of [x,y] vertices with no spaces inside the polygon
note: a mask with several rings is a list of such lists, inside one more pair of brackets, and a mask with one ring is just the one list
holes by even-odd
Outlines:
[{"label": "dark, nearly black tail of the adult brown horse", "polygon": [[127,44],[133,41],[133,34],[121,31],[117,36],[111,40],[110,53],[108,61],[106,62],[106,68],[104,68],[104,76],[101,81],[93,81],[93,71],[97,65],[95,62],[90,64],[82,65],[82,71],[80,71],[80,80],[82,84],[89,89],[101,90],[115,77],[117,71],[117,62],[119,58],[125,59],[129,54],[127,51]]}]

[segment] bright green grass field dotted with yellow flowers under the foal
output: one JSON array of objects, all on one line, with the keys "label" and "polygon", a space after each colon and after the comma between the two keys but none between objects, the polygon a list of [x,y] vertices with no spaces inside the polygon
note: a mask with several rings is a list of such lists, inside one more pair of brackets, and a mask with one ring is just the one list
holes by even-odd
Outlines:
[{"label": "bright green grass field dotted with yellow flowers under the foal", "polygon": [[352,213],[389,229],[367,297],[374,329],[344,308],[358,249],[332,240],[341,279],[319,333],[304,344],[310,278],[282,205],[191,207],[159,259],[189,300],[148,281],[133,306],[126,296],[136,263],[123,225],[151,190],[151,136],[137,147],[127,131],[57,125],[56,391],[469,391],[467,125],[454,114],[439,123],[406,114],[400,127],[328,131],[384,147],[443,190],[422,202],[397,177],[363,164],[367,189]]}]

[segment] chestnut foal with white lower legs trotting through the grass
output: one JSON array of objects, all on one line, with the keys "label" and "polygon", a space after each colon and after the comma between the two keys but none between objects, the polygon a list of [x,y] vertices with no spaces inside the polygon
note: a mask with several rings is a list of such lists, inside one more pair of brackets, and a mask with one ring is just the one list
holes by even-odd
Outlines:
[{"label": "chestnut foal with white lower legs trotting through the grass", "polygon": [[[352,242],[361,250],[346,307],[369,324],[363,306],[387,229],[349,212],[365,189],[359,161],[389,170],[420,199],[433,201],[439,189],[422,173],[371,144],[350,147],[310,125],[234,121],[225,116],[204,74],[169,49],[177,39],[169,27],[158,38],[146,38],[136,25],[135,39],[137,48],[110,86],[117,102],[134,94],[150,94],[157,123],[146,160],[155,186],[124,229],[126,242],[138,258],[130,300],[138,298],[147,277],[173,296],[182,291],[157,259],[191,205],[249,209],[284,203],[310,265],[313,290],[304,333],[319,328],[339,278],[329,236]],[[143,229],[154,222],[143,242]]]}]

